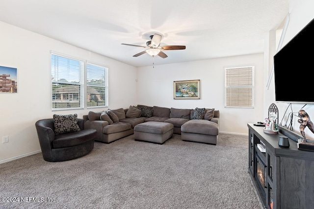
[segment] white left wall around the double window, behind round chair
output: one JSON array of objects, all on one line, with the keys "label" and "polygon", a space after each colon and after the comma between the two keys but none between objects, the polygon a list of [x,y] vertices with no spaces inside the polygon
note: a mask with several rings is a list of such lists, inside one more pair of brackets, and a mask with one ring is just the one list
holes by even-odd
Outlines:
[{"label": "white left wall around the double window, behind round chair", "polygon": [[[51,110],[51,50],[109,67],[109,107],[136,104],[136,68],[51,38],[0,22],[0,66],[18,69],[18,93],[0,93],[0,163],[40,151],[35,122],[53,114],[89,111]],[[2,136],[9,136],[2,143]]]}]

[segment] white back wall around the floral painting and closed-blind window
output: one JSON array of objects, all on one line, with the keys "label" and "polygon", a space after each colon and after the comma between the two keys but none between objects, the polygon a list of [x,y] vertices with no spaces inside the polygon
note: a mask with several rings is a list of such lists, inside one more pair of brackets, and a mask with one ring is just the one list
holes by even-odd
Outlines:
[{"label": "white back wall around the floral painting and closed-blind window", "polygon": [[[138,68],[138,103],[173,108],[215,108],[222,133],[246,134],[263,119],[263,54]],[[225,108],[224,67],[255,66],[255,108]],[[173,99],[173,82],[200,79],[201,99]]]}]

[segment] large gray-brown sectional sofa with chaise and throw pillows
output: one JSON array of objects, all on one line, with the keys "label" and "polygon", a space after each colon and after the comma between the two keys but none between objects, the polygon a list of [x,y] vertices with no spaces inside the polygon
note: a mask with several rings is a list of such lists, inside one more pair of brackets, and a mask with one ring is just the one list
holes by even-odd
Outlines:
[{"label": "large gray-brown sectional sofa with chaise and throw pillows", "polygon": [[137,124],[157,121],[173,124],[173,133],[186,141],[216,144],[219,133],[219,110],[177,109],[137,105],[128,109],[92,112],[83,116],[85,128],[97,130],[96,141],[110,143],[134,133]]}]

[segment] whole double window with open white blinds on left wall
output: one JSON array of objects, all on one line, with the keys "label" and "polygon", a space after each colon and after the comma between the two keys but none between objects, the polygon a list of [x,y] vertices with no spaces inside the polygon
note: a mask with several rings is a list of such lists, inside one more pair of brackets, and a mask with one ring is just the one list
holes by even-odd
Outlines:
[{"label": "whole double window with open white blinds on left wall", "polygon": [[55,54],[51,62],[52,110],[108,106],[108,68]]}]

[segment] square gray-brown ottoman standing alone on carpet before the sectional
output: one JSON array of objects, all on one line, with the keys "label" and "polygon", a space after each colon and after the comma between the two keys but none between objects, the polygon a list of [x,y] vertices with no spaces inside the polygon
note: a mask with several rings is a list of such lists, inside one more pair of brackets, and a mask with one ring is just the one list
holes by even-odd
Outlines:
[{"label": "square gray-brown ottoman standing alone on carpet before the sectional", "polygon": [[134,127],[134,139],[136,141],[163,144],[172,135],[173,124],[171,123],[149,121],[140,123]]}]

